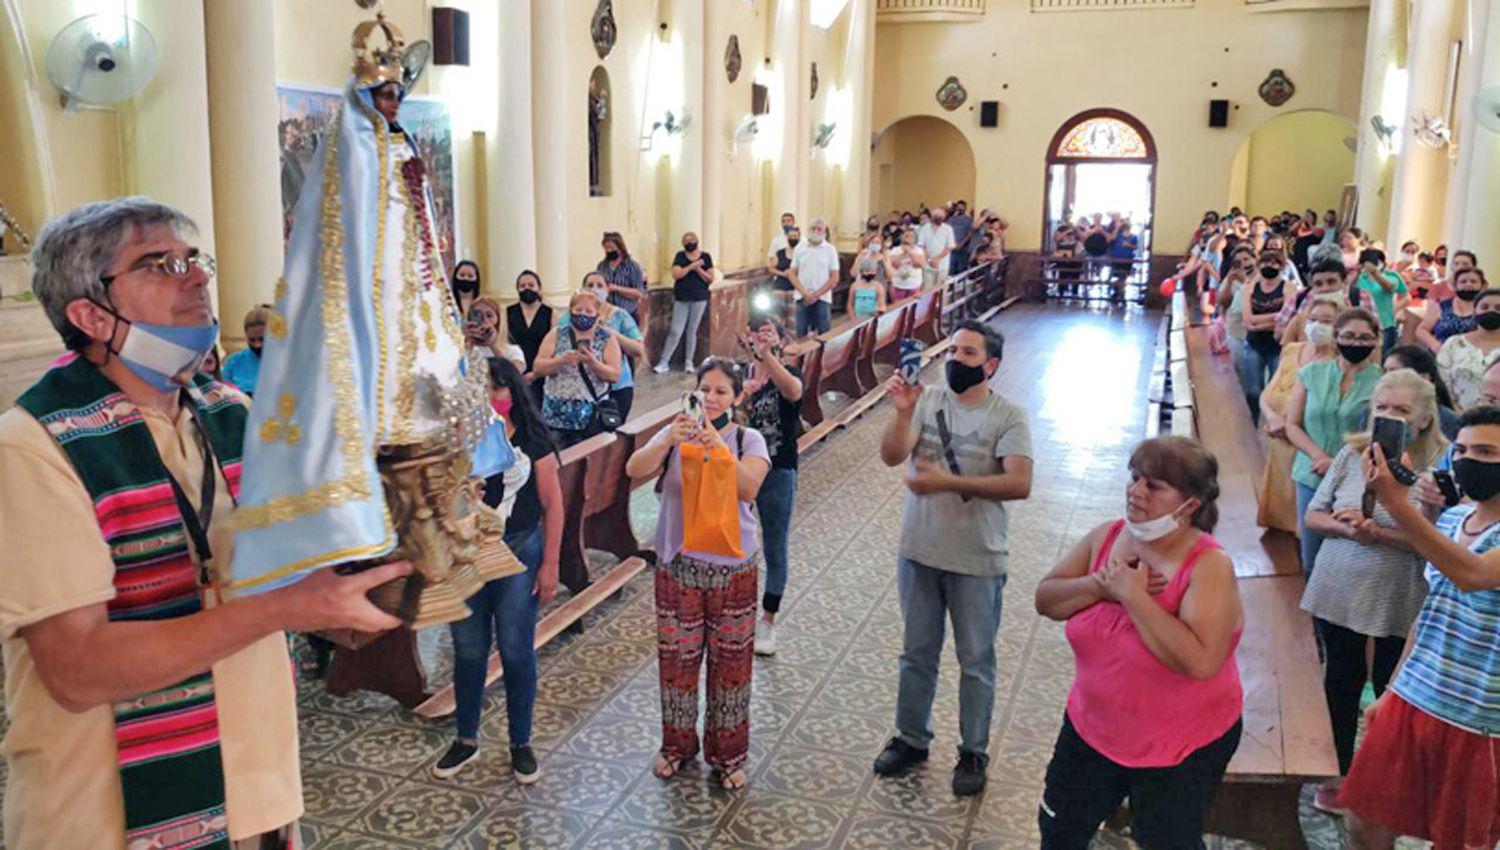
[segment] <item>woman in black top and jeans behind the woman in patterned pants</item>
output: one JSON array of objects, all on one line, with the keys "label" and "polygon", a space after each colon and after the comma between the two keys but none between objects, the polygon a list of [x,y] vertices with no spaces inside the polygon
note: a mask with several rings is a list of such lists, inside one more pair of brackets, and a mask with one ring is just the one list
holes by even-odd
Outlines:
[{"label": "woman in black top and jeans behind the woman in patterned pants", "polygon": [[771,316],[760,316],[746,348],[752,355],[750,381],[746,382],[746,424],[760,432],[771,456],[771,469],[756,495],[760,513],[760,550],[765,553],[764,612],[756,622],[756,655],[776,655],[776,613],[786,592],[786,540],[792,531],[796,504],[796,438],[802,433],[802,372],[782,363],[786,333]]}]

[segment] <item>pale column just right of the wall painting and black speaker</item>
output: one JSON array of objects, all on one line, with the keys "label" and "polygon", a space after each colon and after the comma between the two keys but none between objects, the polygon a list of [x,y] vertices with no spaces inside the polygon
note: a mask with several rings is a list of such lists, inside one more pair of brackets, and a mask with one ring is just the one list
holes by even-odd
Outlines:
[{"label": "pale column just right of the wall painting and black speaker", "polygon": [[[494,124],[484,133],[488,225],[484,235],[489,240],[489,268],[484,270],[484,288],[507,300],[514,298],[516,276],[524,268],[536,268],[538,262],[536,154],[531,145],[534,130],[531,6],[531,0],[510,0],[504,13],[495,15],[500,33],[496,63],[500,109]],[[564,109],[556,111],[566,115]],[[567,240],[560,238],[560,241],[566,264]],[[542,280],[552,283],[546,276]]]}]

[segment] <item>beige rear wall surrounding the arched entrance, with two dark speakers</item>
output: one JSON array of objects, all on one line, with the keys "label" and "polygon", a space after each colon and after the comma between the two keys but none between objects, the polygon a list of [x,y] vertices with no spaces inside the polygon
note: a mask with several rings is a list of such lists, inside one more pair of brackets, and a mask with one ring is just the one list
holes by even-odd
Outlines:
[{"label": "beige rear wall surrounding the arched entrance, with two dark speakers", "polygon": [[[954,120],[975,151],[972,201],[1010,217],[1012,247],[1036,249],[1053,132],[1083,109],[1124,109],[1156,139],[1156,237],[1176,244],[1203,210],[1224,204],[1234,156],[1257,126],[1292,109],[1358,114],[1366,15],[1250,13],[1244,0],[1041,15],[1026,3],[992,1],[981,22],[882,24],[873,127],[908,115]],[[1272,67],[1298,87],[1281,109],[1256,93]],[[969,100],[945,112],[934,93],[951,73]],[[1214,97],[1234,106],[1227,129],[1208,126]],[[980,127],[980,100],[1000,102],[999,127]]]}]

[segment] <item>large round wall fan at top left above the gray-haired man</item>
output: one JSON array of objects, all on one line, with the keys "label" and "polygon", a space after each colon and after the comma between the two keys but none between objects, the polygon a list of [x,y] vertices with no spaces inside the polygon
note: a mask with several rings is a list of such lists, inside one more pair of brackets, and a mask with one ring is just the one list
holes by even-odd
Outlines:
[{"label": "large round wall fan at top left above the gray-haired man", "polygon": [[68,24],[46,48],[46,76],[63,108],[106,106],[146,88],[156,70],[156,39],[129,15],[87,15]]}]

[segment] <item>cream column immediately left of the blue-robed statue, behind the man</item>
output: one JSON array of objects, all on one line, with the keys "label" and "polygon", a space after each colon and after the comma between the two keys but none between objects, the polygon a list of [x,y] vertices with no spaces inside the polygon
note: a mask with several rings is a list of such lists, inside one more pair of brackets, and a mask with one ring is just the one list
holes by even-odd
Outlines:
[{"label": "cream column immediately left of the blue-robed statue, behind the man", "polygon": [[[272,300],[282,273],[274,13],[273,3],[202,3],[213,210],[224,223],[216,234],[219,333],[230,349],[244,345],[244,313]],[[186,144],[171,150],[190,154]],[[194,174],[201,180],[206,171]]]}]

